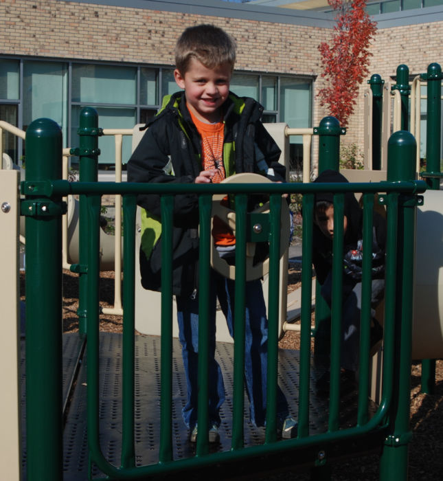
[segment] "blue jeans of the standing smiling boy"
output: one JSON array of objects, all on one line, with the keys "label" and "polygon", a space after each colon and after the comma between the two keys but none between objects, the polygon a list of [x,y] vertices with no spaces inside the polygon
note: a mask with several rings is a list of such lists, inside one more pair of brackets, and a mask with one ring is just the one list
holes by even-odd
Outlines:
[{"label": "blue jeans of the standing smiling boy", "polygon": [[[225,401],[223,377],[214,359],[216,347],[216,300],[226,317],[229,333],[234,337],[234,281],[211,271],[209,298],[209,424],[220,425],[220,406]],[[245,293],[245,384],[249,399],[251,422],[264,426],[266,420],[266,368],[268,320],[262,283],[246,283]],[[192,429],[197,422],[198,366],[198,296],[193,300],[177,296],[177,320],[182,346],[183,365],[188,387],[188,399],[183,407],[185,425]],[[277,418],[288,416],[288,404],[277,386]]]}]

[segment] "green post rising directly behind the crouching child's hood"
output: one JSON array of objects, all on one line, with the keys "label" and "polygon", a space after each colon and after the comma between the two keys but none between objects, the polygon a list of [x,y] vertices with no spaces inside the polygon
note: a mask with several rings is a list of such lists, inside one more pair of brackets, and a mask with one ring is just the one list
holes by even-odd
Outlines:
[{"label": "green post rising directly behind the crouching child's hood", "polygon": [[[319,174],[323,170],[340,168],[340,135],[346,133],[341,128],[339,121],[334,117],[325,117],[320,125],[314,128],[314,133],[319,135]],[[326,323],[330,320],[330,309],[321,296],[319,282],[315,285],[315,362],[323,366],[330,350],[330,337],[326,334]]]}]

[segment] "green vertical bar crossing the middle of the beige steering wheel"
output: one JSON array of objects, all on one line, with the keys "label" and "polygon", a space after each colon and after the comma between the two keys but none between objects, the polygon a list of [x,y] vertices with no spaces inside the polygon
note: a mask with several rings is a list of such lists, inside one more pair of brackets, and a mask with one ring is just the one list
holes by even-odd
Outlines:
[{"label": "green vertical bar crossing the middle of the beige steering wheel", "polygon": [[232,413],[232,449],[241,449],[244,443],[247,201],[247,195],[236,194],[236,302],[234,307],[234,411]]}]

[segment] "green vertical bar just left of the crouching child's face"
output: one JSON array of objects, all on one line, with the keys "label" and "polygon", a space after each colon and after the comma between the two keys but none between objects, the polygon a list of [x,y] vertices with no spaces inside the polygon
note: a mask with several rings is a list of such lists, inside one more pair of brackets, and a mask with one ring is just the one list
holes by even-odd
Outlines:
[{"label": "green vertical bar just left of the crouching child's face", "polygon": [[314,195],[303,196],[302,236],[302,331],[300,333],[300,381],[298,437],[309,436],[310,335],[313,285]]}]

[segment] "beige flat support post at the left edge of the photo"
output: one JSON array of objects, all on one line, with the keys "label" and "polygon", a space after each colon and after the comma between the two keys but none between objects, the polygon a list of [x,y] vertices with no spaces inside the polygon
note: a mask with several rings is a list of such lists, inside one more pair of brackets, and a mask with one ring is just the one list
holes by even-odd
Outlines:
[{"label": "beige flat support post at the left edge of the photo", "polygon": [[19,413],[19,172],[0,170],[0,466],[8,481],[21,479]]}]

